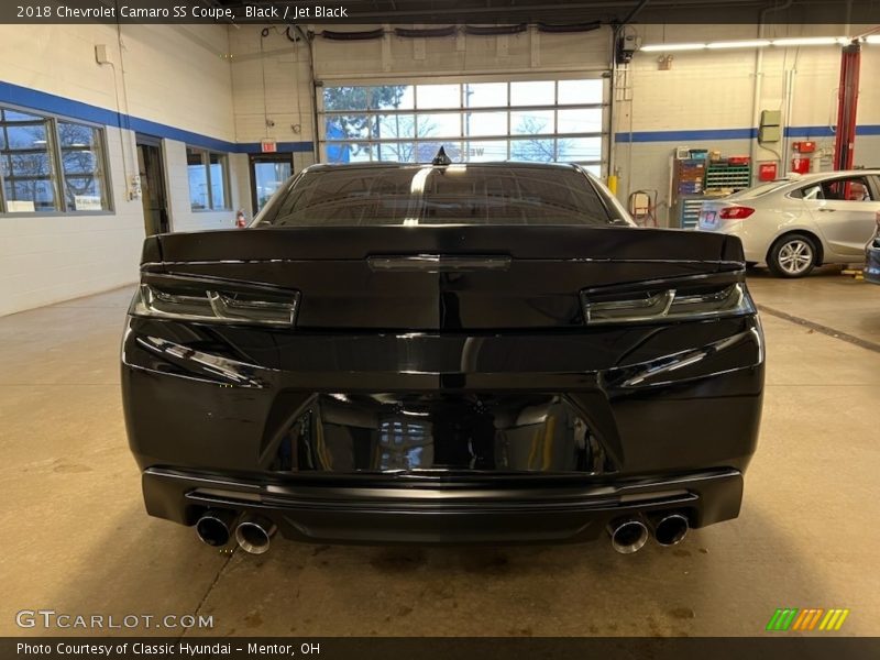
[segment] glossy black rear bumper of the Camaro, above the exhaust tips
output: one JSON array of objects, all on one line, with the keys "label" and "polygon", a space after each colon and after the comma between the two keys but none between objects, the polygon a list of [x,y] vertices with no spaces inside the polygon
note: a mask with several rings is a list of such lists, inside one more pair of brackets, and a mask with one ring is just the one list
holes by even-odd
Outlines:
[{"label": "glossy black rear bumper of the Camaro, above the exhaust tips", "polygon": [[333,542],[556,542],[632,514],[734,518],[763,389],[755,316],[481,336],[132,319],[122,359],[151,515],[258,512]]}]

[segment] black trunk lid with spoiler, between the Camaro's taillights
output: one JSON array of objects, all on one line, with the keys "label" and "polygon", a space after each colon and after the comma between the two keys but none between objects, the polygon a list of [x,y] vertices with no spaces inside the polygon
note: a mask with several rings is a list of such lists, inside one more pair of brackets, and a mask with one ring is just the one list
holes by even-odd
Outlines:
[{"label": "black trunk lid with spoiler, between the Camaro's taillights", "polygon": [[585,288],[741,268],[741,246],[729,237],[526,226],[165,234],[147,240],[143,263],[145,280],[173,275],[299,292],[299,329],[414,331],[574,328],[584,323]]}]

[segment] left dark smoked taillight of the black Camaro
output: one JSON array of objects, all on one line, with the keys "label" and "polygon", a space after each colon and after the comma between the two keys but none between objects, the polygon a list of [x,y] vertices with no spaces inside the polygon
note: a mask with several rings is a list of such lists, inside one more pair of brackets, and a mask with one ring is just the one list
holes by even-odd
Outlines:
[{"label": "left dark smoked taillight of the black Camaro", "polygon": [[292,327],[299,292],[179,276],[150,276],[132,316],[194,322]]}]

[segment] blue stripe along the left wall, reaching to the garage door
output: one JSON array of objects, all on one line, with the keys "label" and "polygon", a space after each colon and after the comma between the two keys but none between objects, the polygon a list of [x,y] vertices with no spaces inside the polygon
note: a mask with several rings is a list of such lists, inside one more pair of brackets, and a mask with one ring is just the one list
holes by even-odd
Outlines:
[{"label": "blue stripe along the left wall, reaching to the garage door", "polygon": [[[193,131],[150,121],[148,119],[131,117],[114,110],[107,110],[106,108],[99,108],[98,106],[91,106],[81,101],[74,101],[54,94],[38,91],[29,87],[21,87],[11,82],[0,81],[0,102],[12,103],[14,106],[48,112],[51,114],[61,114],[69,117],[70,119],[130,129],[139,133],[177,140],[204,148],[238,154],[258,154],[261,152],[258,142],[229,142],[227,140],[219,140],[210,135],[194,133]],[[314,148],[311,142],[278,142],[277,147],[279,152],[310,152]]]}]

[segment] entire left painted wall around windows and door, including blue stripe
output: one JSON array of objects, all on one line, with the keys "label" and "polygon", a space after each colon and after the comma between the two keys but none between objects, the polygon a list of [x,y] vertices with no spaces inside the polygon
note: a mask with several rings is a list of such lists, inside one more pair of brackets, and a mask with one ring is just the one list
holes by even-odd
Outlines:
[{"label": "entire left painted wall around windows and door, including blue stripe", "polygon": [[[96,62],[98,44],[112,66]],[[179,138],[163,145],[175,231],[232,227],[232,211],[190,210],[183,141],[235,142],[228,51],[226,26],[0,25],[0,103],[103,123],[113,201],[95,216],[0,213],[0,315],[136,280],[144,217],[127,186],[134,133],[120,123]],[[250,204],[246,156],[233,155],[230,170],[235,209]]]}]

